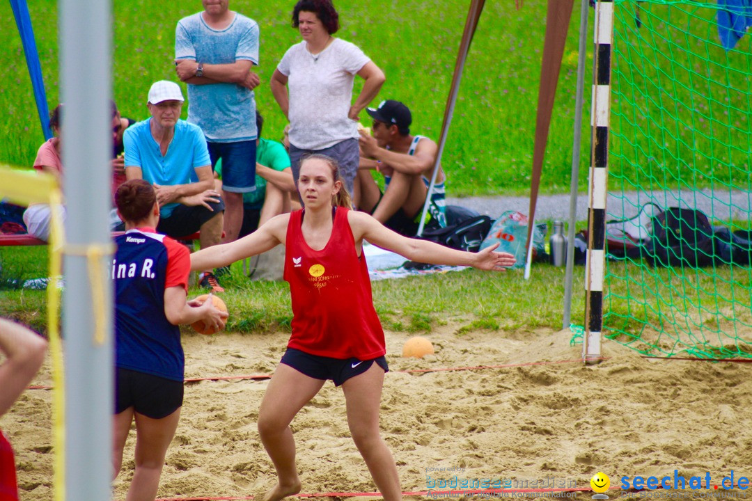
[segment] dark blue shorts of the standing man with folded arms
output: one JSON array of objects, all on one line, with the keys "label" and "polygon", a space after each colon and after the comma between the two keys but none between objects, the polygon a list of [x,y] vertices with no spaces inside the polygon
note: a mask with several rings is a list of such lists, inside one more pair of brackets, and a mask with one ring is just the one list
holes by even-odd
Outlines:
[{"label": "dark blue shorts of the standing man with folded arms", "polygon": [[256,191],[256,140],[235,143],[207,141],[211,170],[222,158],[222,189],[232,193]]}]

